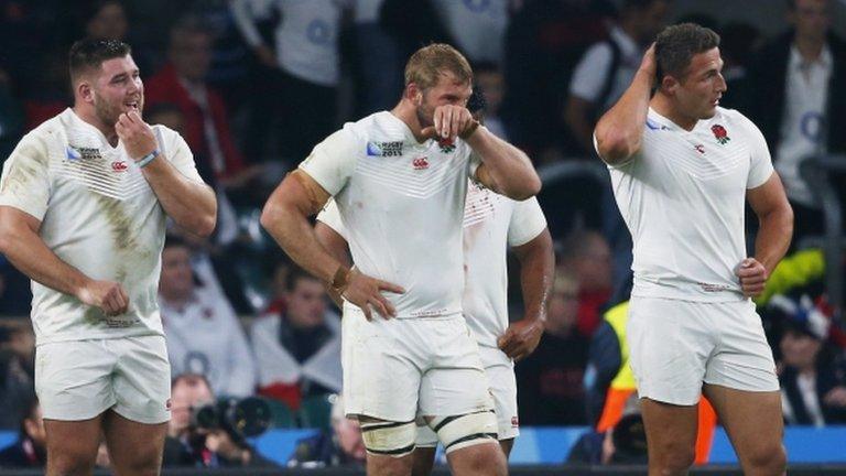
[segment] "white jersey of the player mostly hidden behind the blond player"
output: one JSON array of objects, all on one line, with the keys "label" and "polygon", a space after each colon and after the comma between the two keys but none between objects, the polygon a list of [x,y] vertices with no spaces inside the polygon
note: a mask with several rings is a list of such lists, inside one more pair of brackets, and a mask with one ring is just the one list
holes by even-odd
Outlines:
[{"label": "white jersey of the player mostly hidden behind the blond player", "polygon": [[[346,238],[338,207],[317,219]],[[538,198],[516,202],[470,183],[464,208],[464,296],[467,324],[479,345],[497,347],[508,328],[508,247],[525,245],[546,228]]]}]

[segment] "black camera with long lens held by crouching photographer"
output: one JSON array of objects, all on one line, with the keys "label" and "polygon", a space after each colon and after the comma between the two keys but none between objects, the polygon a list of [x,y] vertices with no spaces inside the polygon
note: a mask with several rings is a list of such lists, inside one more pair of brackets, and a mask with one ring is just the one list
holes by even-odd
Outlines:
[{"label": "black camera with long lens held by crouching photographer", "polygon": [[195,407],[191,412],[191,425],[200,430],[223,430],[236,442],[259,436],[270,426],[271,410],[257,397],[220,399],[217,402]]}]

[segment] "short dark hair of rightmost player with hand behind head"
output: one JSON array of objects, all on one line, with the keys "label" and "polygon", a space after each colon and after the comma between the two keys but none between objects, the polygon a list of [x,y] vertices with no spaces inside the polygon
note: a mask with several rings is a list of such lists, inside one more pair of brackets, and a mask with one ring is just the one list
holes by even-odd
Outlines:
[{"label": "short dark hair of rightmost player with hand behind head", "polygon": [[719,46],[719,35],[712,29],[696,23],[681,23],[665,28],[655,39],[659,85],[665,75],[677,79],[683,78],[694,55],[717,46]]}]

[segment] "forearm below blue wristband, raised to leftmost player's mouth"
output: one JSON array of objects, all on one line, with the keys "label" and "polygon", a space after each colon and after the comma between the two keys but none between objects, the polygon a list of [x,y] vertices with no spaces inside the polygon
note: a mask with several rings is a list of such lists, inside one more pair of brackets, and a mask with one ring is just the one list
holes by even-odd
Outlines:
[{"label": "forearm below blue wristband, raised to leftmost player's mouth", "polygon": [[164,156],[142,170],[162,208],[177,225],[199,236],[214,231],[217,198],[212,187],[187,178]]}]

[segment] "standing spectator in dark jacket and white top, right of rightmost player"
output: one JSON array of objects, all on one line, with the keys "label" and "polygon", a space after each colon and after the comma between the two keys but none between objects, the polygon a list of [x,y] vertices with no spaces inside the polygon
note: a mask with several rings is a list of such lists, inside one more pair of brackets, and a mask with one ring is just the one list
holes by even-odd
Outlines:
[{"label": "standing spectator in dark jacket and white top, right of rightmost player", "polygon": [[800,163],[846,152],[846,46],[829,32],[829,10],[827,0],[788,1],[793,28],[766,45],[752,68],[749,116],[767,139],[793,206],[794,245],[823,231],[814,184],[804,182]]}]

